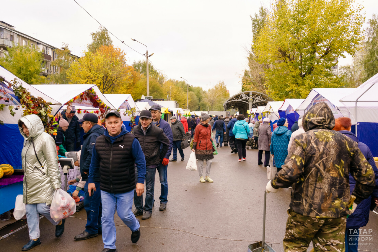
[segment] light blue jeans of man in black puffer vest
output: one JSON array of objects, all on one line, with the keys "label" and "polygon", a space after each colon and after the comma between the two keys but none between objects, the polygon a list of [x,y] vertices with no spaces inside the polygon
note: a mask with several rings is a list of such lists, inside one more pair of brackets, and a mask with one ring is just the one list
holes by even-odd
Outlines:
[{"label": "light blue jeans of man in black puffer vest", "polygon": [[131,211],[133,205],[134,191],[127,193],[108,193],[101,190],[102,203],[102,241],[104,242],[104,249],[115,249],[117,231],[114,224],[114,215],[117,215],[131,231],[139,229],[139,222]]}]

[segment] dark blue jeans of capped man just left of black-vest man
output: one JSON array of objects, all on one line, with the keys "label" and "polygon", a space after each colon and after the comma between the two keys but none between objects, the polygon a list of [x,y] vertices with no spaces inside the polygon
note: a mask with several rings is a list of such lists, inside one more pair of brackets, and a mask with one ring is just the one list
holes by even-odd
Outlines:
[{"label": "dark blue jeans of capped man just left of black-vest man", "polygon": [[[95,186],[100,188],[100,182],[95,182]],[[87,212],[85,231],[90,234],[101,232],[101,191],[94,191],[93,195],[89,197],[88,182],[84,185],[84,209]]]}]

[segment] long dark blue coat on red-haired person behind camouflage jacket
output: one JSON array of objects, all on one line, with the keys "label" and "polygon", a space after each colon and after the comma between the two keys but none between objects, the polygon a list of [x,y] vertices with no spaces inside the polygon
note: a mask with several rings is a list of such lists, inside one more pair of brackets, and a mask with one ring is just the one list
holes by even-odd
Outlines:
[{"label": "long dark blue coat on red-haired person behind camouflage jacket", "polygon": [[[346,135],[347,137],[352,138],[353,141],[358,142],[358,148],[361,150],[362,154],[364,154],[367,162],[370,163],[375,173],[375,191],[376,191],[378,187],[378,169],[375,166],[375,161],[373,159],[373,155],[369,147],[367,147],[366,144],[359,142],[356,135],[353,134],[352,132],[350,131],[339,131],[339,132]],[[353,189],[355,188],[355,185],[356,185],[356,181],[349,173],[350,194],[352,194]],[[361,201],[361,203],[358,204],[356,210],[347,218],[347,228],[352,229],[352,228],[359,228],[359,227],[366,226],[367,222],[369,222],[369,210],[370,210],[371,200],[372,200],[372,197],[370,196],[369,198],[364,199],[363,201]]]}]

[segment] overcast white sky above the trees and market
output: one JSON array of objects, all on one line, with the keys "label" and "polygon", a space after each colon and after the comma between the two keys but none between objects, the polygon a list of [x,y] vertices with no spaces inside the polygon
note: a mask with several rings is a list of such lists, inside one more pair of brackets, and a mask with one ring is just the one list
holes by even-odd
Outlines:
[{"label": "overcast white sky above the trees and market", "polygon": [[[127,45],[144,54],[149,48],[155,67],[168,78],[183,77],[189,84],[208,88],[224,81],[230,94],[241,90],[240,75],[246,67],[244,47],[252,40],[249,15],[258,12],[263,1],[99,1],[76,0],[93,17]],[[365,6],[367,19],[378,13],[376,0],[356,0]],[[69,45],[72,53],[81,56],[91,42],[90,33],[99,28],[74,0],[2,2],[0,19],[15,29],[36,36],[50,45]],[[130,64],[145,59],[112,37],[121,47]],[[341,59],[339,65],[351,61]],[[137,99],[139,97],[134,97]]]}]

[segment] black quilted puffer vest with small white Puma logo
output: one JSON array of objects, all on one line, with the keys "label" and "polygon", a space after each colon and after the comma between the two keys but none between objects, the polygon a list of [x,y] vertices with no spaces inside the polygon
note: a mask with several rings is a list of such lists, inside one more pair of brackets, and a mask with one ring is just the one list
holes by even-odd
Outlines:
[{"label": "black quilted puffer vest with small white Puma logo", "polygon": [[105,135],[97,138],[95,148],[100,157],[101,190],[127,193],[135,189],[135,160],[132,155],[134,138],[129,132],[117,138],[113,144]]}]

